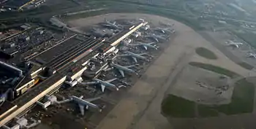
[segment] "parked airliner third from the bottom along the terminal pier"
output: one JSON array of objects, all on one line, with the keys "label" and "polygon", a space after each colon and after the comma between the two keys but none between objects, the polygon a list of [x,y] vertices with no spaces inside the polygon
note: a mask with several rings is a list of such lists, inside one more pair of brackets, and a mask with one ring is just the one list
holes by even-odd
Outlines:
[{"label": "parked airliner third from the bottom along the terminal pier", "polygon": [[105,71],[109,71],[109,70],[112,70],[112,69],[117,69],[117,70],[119,71],[119,73],[121,74],[122,77],[124,77],[124,71],[127,71],[127,72],[129,72],[129,73],[138,75],[138,73],[137,73],[136,71],[134,71],[134,70],[132,70],[132,69],[129,69],[129,68],[134,67],[134,66],[136,66],[136,65],[132,65],[132,66],[120,66],[120,65],[118,65],[118,64],[116,64],[116,63],[110,63],[110,66],[111,66],[112,68],[110,68],[110,69],[105,69]]}]

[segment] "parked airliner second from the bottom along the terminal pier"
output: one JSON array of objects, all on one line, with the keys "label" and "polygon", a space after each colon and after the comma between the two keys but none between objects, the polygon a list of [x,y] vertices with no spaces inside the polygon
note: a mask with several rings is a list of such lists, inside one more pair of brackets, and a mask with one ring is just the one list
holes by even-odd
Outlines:
[{"label": "parked airliner second from the bottom along the terminal pier", "polygon": [[92,79],[93,82],[82,82],[82,85],[100,85],[102,87],[102,92],[104,93],[105,87],[113,87],[116,88],[116,90],[119,90],[119,88],[116,85],[111,84],[110,82],[113,82],[115,79],[110,79],[107,81],[103,81],[101,79]]}]

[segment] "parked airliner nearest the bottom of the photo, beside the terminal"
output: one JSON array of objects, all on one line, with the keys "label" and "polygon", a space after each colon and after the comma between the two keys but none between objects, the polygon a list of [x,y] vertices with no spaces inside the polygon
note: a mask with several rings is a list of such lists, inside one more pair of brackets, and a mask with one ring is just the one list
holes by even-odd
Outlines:
[{"label": "parked airliner nearest the bottom of the photo, beside the terminal", "polygon": [[99,112],[102,112],[102,109],[97,106],[94,103],[91,103],[91,101],[96,101],[97,99],[101,98],[101,97],[97,97],[97,98],[87,98],[85,100],[82,99],[83,95],[80,96],[79,98],[75,95],[72,95],[70,97],[71,101],[75,101],[75,103],[78,103],[78,106],[80,108],[80,114],[84,115],[84,108],[86,107],[86,109],[89,109],[89,107],[93,108],[93,109],[98,109]]}]

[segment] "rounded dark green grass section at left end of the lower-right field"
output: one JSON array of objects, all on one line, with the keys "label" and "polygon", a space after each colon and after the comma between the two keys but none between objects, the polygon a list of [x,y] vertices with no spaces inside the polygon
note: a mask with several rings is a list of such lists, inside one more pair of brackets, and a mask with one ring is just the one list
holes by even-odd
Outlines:
[{"label": "rounded dark green grass section at left end of the lower-right field", "polygon": [[195,117],[195,103],[176,95],[168,95],[162,101],[162,113],[172,117]]}]

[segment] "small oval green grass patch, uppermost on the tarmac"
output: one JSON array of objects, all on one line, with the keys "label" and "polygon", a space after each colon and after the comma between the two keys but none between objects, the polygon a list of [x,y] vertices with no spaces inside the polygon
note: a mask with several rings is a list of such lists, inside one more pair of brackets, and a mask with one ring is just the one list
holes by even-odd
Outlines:
[{"label": "small oval green grass patch, uppermost on the tarmac", "polygon": [[195,52],[197,53],[197,55],[200,55],[203,58],[208,58],[211,60],[217,59],[217,55],[215,55],[214,52],[211,52],[211,50],[208,50],[205,47],[197,47],[195,49]]}]

